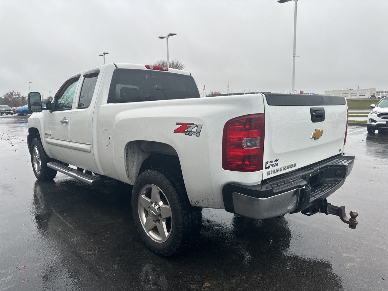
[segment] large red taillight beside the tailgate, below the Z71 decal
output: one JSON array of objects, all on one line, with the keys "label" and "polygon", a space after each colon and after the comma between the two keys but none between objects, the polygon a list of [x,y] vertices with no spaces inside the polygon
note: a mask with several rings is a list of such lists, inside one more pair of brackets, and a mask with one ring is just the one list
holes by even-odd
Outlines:
[{"label": "large red taillight beside the tailgate, below the Z71 decal", "polygon": [[222,168],[253,172],[263,170],[264,113],[229,120],[223,128]]}]

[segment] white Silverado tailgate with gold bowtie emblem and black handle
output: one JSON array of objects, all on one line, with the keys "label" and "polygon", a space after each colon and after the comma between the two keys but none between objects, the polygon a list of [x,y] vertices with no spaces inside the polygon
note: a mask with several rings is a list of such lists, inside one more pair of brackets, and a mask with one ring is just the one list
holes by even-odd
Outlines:
[{"label": "white Silverado tailgate with gold bowtie emblem and black handle", "polygon": [[264,107],[263,180],[343,151],[344,97],[267,93]]}]

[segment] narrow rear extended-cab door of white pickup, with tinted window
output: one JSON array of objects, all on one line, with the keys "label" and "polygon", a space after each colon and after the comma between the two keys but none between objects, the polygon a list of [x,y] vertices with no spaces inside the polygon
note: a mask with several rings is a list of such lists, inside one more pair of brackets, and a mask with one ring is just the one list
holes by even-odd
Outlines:
[{"label": "narrow rear extended-cab door of white pickup, with tinted window", "polygon": [[70,148],[76,166],[99,173],[92,147],[92,123],[94,105],[100,83],[99,69],[86,71],[81,77],[81,90],[76,98],[76,108],[71,114]]}]

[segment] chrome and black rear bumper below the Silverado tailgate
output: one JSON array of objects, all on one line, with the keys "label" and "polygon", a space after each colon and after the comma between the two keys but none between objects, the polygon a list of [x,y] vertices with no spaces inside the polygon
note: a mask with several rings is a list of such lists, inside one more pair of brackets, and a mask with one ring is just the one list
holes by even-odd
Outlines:
[{"label": "chrome and black rear bumper below the Silverado tailgate", "polygon": [[256,219],[299,212],[340,188],[353,163],[354,156],[339,155],[259,185],[226,184],[222,189],[225,210]]}]

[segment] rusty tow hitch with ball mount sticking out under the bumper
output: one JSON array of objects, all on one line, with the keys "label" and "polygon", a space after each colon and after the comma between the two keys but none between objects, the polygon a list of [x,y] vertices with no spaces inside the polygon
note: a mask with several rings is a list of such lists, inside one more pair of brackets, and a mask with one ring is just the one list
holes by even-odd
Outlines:
[{"label": "rusty tow hitch with ball mount sticking out under the bumper", "polygon": [[334,206],[331,203],[327,203],[326,199],[319,201],[319,203],[306,208],[301,211],[305,215],[313,215],[315,213],[325,213],[326,215],[333,214],[340,217],[342,222],[349,225],[351,229],[355,229],[359,223],[356,217],[359,215],[357,211],[350,211],[350,218],[346,215],[345,206]]}]

